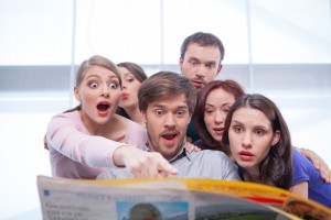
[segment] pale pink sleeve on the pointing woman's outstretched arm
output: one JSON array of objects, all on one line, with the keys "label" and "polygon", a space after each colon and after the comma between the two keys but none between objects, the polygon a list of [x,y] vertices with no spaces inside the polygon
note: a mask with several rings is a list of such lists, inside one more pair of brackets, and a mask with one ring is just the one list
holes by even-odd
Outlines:
[{"label": "pale pink sleeve on the pointing woman's outstretched arm", "polygon": [[89,167],[114,167],[114,151],[122,143],[79,131],[77,122],[65,113],[53,117],[47,125],[49,147]]}]

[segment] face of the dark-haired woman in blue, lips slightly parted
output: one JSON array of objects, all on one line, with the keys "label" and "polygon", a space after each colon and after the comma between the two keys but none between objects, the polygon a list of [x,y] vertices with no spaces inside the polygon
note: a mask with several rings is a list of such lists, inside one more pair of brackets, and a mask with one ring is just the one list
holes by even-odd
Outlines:
[{"label": "face of the dark-haired woman in blue, lips slightly parted", "polygon": [[280,138],[269,119],[259,110],[237,109],[231,120],[228,141],[235,161],[250,173],[258,174],[259,164]]}]

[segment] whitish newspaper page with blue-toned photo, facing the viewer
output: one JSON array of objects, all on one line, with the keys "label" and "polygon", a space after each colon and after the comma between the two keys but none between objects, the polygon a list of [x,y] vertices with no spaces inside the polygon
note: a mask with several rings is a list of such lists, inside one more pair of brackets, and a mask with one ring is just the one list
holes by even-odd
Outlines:
[{"label": "whitish newspaper page with blue-toned photo, facing the viewer", "polygon": [[300,219],[235,196],[190,190],[178,180],[111,183],[39,176],[43,219]]}]

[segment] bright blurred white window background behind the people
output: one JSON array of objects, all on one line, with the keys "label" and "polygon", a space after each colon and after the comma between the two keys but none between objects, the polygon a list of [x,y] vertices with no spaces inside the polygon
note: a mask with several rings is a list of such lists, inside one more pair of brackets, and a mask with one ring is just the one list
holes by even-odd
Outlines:
[{"label": "bright blurred white window background behind the people", "polygon": [[98,54],[179,72],[181,43],[197,31],[225,46],[218,78],[271,98],[293,144],[331,166],[330,12],[330,0],[1,0],[0,219],[42,219],[43,135],[75,106],[77,65]]}]

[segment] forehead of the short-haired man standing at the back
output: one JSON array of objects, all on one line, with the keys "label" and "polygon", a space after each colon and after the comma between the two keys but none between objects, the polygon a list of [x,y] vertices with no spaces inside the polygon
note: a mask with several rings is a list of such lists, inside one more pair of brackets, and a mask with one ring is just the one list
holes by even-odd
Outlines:
[{"label": "forehead of the short-haired man standing at the back", "polygon": [[197,43],[189,44],[184,58],[196,58],[201,62],[215,62],[218,63],[221,59],[220,48],[213,45],[202,46]]}]

